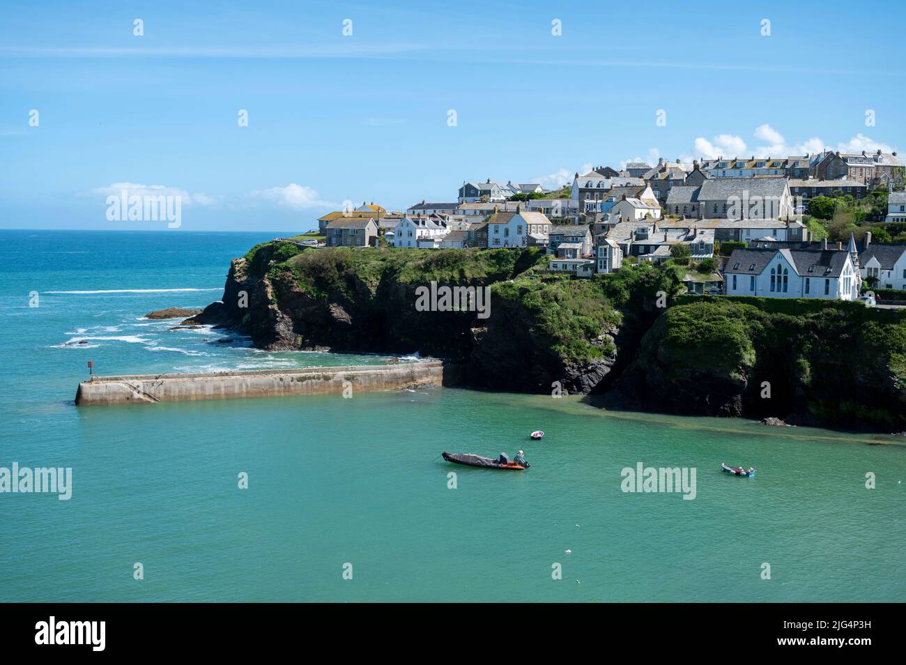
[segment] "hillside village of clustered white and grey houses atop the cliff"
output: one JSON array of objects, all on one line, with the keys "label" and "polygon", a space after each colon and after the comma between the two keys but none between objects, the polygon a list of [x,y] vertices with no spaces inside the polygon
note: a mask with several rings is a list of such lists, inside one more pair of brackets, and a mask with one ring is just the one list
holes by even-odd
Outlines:
[{"label": "hillside village of clustered white and grey houses atop the cliff", "polygon": [[[815,244],[800,219],[803,202],[888,188],[888,221],[906,221],[906,193],[892,191],[903,187],[904,172],[895,152],[880,151],[659,159],[577,172],[571,185],[550,191],[513,180],[464,180],[448,201],[422,199],[404,211],[362,202],[318,224],[325,246],[535,246],[549,254],[549,270],[578,276],[679,255],[696,293],[855,299],[863,280],[906,288],[902,248],[872,246],[871,234],[864,246],[854,238],[845,248]],[[728,242],[744,247],[727,259],[716,250]]]}]

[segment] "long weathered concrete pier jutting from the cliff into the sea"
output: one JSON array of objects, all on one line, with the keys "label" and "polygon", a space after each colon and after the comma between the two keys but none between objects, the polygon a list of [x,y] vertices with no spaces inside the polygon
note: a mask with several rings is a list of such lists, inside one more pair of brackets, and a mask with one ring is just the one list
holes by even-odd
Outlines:
[{"label": "long weathered concrete pier jutting from the cliff into the sea", "polygon": [[[327,395],[439,386],[450,368],[441,361],[391,365],[317,367],[298,370],[218,371],[96,376],[82,381],[76,406],[154,404],[162,401],[227,400],[243,397]],[[346,383],[349,381],[349,384]]]}]

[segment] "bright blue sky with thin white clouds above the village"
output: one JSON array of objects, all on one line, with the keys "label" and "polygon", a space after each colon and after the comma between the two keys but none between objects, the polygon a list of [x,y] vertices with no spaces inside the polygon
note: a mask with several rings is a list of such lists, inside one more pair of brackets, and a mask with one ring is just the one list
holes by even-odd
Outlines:
[{"label": "bright blue sky with thin white clouds above the village", "polygon": [[178,193],[183,230],[300,231],[464,179],[906,149],[902,3],[264,5],[5,0],[0,227],[166,227],[108,221],[116,183]]}]

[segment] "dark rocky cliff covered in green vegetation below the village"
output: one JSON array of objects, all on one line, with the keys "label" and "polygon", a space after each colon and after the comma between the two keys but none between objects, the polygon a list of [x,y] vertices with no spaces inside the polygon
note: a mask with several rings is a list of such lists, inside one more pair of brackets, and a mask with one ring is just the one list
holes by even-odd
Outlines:
[{"label": "dark rocky cliff covered in green vegetation below the village", "polygon": [[[233,261],[223,301],[190,322],[272,350],[419,353],[491,390],[597,394],[609,408],[906,429],[906,323],[862,304],[677,297],[671,266],[576,279],[537,249],[304,249]],[[489,306],[427,311],[434,287]],[[477,299],[476,305],[482,304]],[[485,315],[487,313],[487,315]]]}]

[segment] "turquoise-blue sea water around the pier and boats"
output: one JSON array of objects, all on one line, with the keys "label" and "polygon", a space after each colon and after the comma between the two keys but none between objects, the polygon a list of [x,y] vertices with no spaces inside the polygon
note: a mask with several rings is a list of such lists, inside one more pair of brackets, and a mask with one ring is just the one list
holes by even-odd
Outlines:
[{"label": "turquoise-blue sea water around the pier and boats", "polygon": [[[450,389],[72,405],[89,359],[106,374],[382,362],[143,320],[216,300],[229,259],[273,236],[0,232],[0,467],[73,476],[69,501],[0,494],[3,600],[906,599],[891,438]],[[517,448],[524,473],[439,458]],[[639,462],[695,467],[696,498],[622,492]]]}]

